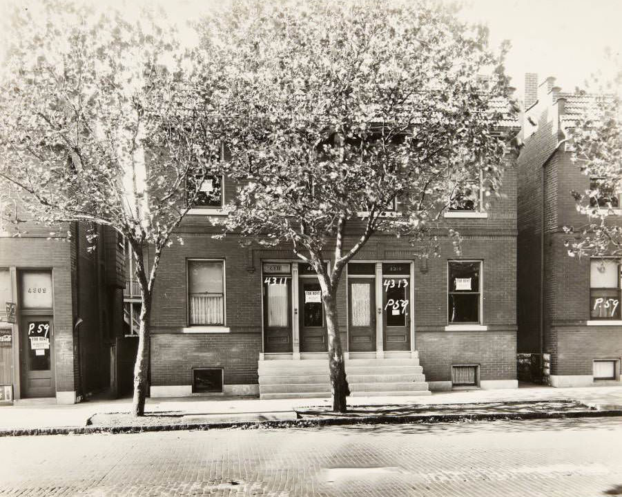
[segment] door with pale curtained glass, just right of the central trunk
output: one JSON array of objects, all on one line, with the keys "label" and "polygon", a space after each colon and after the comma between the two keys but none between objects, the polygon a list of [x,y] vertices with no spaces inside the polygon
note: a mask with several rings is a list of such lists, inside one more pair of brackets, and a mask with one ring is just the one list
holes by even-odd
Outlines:
[{"label": "door with pale curtained glass, just right of the central trunk", "polygon": [[376,280],[348,280],[348,349],[351,352],[376,351]]}]

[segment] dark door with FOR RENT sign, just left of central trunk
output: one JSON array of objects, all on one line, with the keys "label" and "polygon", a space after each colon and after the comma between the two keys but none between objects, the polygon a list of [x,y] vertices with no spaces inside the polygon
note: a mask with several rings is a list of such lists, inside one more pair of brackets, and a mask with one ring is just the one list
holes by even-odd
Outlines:
[{"label": "dark door with FOR RENT sign, just left of central trunk", "polygon": [[326,320],[318,278],[300,278],[300,352],[326,352]]}]

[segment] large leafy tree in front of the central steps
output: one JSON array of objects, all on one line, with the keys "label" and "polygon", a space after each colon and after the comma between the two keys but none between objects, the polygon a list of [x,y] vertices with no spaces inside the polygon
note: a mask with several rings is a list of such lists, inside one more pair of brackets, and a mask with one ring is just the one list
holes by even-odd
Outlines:
[{"label": "large leafy tree in front of the central steps", "polygon": [[286,244],[315,269],[344,412],[342,272],[374,233],[433,239],[450,197],[478,202],[480,178],[498,195],[507,46],[427,0],[240,1],[209,22],[204,59],[226,60],[224,174],[240,184],[225,233]]}]

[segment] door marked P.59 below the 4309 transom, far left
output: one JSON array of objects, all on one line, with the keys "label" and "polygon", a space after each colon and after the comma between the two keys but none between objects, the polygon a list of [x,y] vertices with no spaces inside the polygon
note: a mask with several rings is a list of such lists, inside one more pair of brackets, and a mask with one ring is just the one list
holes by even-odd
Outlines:
[{"label": "door marked P.59 below the 4309 transom, far left", "polygon": [[53,397],[54,336],[52,318],[29,315],[21,320],[21,389],[23,397]]}]

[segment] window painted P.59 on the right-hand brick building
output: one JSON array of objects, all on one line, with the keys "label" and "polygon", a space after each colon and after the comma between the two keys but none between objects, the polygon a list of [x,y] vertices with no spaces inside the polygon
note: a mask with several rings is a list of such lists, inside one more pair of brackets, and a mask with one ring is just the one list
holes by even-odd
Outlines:
[{"label": "window painted P.59 on the right-hand brick building", "polygon": [[620,261],[590,260],[590,319],[620,319]]}]

